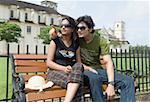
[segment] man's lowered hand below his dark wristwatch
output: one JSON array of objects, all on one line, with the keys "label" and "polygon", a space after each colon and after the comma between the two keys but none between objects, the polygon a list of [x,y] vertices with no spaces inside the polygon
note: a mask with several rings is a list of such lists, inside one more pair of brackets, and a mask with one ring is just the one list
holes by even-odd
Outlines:
[{"label": "man's lowered hand below his dark wristwatch", "polygon": [[107,99],[110,100],[115,96],[115,89],[113,85],[108,84],[106,89]]}]

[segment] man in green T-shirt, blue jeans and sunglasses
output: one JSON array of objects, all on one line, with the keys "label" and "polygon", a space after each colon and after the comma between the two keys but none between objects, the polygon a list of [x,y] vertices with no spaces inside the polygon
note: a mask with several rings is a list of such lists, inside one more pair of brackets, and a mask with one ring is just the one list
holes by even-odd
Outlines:
[{"label": "man in green T-shirt, blue jeans and sunglasses", "polygon": [[[134,81],[131,77],[114,72],[109,55],[109,45],[104,38],[96,36],[94,22],[90,16],[77,19],[77,31],[80,37],[81,62],[89,79],[93,102],[104,102],[100,86],[107,82],[107,98],[115,95],[114,87],[121,89],[121,102],[135,102]],[[102,57],[105,67],[100,63]]]}]

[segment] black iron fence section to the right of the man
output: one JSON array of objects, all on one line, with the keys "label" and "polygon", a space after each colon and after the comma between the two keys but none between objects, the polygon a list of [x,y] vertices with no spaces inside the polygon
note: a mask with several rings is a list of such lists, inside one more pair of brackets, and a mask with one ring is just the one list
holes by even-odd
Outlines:
[{"label": "black iron fence section to the right of the man", "polygon": [[127,52],[120,50],[118,53],[111,51],[114,66],[117,71],[128,74],[138,84],[137,91],[150,90],[150,49],[130,48]]}]

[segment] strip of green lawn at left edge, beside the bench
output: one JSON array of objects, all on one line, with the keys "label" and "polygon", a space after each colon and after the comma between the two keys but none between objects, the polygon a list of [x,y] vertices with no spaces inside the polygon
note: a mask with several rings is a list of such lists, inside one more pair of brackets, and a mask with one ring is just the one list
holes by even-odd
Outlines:
[{"label": "strip of green lawn at left edge, beside the bench", "polygon": [[[0,99],[6,98],[6,70],[7,70],[7,58],[0,57]],[[12,85],[11,85],[11,67],[9,65],[9,90],[8,98],[12,95]]]}]

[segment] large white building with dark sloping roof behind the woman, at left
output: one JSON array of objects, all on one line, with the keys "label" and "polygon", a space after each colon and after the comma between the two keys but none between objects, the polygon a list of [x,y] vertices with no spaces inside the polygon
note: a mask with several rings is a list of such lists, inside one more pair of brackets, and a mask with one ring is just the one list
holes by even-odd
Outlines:
[{"label": "large white building with dark sloping roof behind the woman, at left", "polygon": [[[57,4],[51,1],[45,0],[41,5],[37,5],[18,0],[0,0],[0,22],[12,22],[21,27],[24,38],[19,42],[20,53],[26,52],[26,45],[30,45],[30,53],[35,53],[35,45],[42,44],[37,38],[40,29],[52,24],[59,25],[61,18],[62,15],[57,12]],[[11,53],[16,53],[17,45],[10,44]],[[6,53],[6,44],[1,41],[0,54],[4,53]],[[43,53],[43,50],[39,53]]]}]

